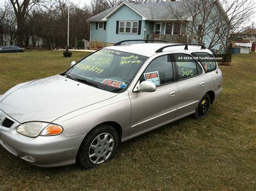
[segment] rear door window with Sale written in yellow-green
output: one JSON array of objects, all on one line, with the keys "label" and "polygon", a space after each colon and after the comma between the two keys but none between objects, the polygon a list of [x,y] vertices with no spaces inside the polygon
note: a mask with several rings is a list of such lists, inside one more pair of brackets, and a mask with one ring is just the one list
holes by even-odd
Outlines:
[{"label": "rear door window with Sale written in yellow-green", "polygon": [[184,53],[174,53],[173,57],[177,65],[179,80],[191,78],[203,73],[199,64],[190,55]]}]

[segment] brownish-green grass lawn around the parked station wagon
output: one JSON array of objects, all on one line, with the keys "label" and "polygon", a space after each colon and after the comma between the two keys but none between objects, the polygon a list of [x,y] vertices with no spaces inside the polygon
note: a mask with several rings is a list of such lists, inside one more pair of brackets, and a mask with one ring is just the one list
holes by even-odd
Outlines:
[{"label": "brownish-green grass lawn around the parked station wagon", "polygon": [[[0,94],[58,74],[84,52],[0,54]],[[0,147],[1,189],[256,189],[256,53],[220,66],[223,94],[204,120],[187,117],[120,145],[99,168],[39,168]]]}]

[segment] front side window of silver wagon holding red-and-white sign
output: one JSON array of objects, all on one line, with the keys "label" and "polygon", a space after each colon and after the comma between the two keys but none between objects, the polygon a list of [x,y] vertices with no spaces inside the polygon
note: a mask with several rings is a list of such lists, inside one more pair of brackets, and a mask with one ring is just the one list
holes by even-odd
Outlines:
[{"label": "front side window of silver wagon holding red-and-white sign", "polygon": [[170,56],[164,55],[154,59],[140,77],[140,82],[142,81],[151,81],[156,86],[171,83],[173,70]]}]

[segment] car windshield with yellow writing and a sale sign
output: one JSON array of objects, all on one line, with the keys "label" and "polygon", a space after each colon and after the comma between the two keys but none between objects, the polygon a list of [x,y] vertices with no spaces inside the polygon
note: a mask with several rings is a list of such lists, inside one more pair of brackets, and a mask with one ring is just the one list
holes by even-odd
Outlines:
[{"label": "car windshield with yellow writing and a sale sign", "polygon": [[81,60],[64,75],[102,90],[121,93],[146,59],[137,54],[102,49]]}]

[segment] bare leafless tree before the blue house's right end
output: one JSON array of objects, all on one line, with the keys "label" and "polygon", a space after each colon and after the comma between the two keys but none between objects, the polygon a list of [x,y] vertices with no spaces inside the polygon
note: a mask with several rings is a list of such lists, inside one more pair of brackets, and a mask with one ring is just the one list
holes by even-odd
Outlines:
[{"label": "bare leafless tree before the blue house's right end", "polygon": [[205,43],[209,49],[218,44],[218,49],[226,49],[230,33],[254,13],[252,0],[183,0],[175,4],[169,3],[170,12],[181,22],[188,18],[188,42]]}]

